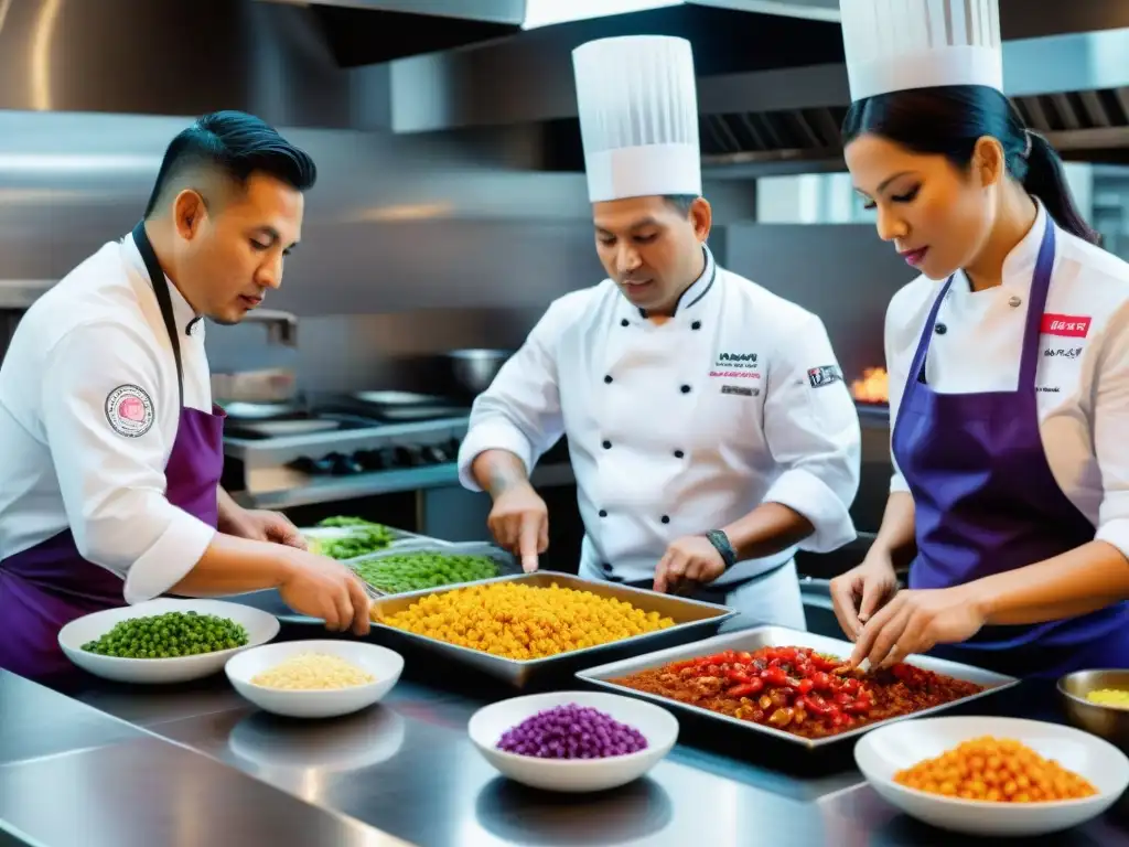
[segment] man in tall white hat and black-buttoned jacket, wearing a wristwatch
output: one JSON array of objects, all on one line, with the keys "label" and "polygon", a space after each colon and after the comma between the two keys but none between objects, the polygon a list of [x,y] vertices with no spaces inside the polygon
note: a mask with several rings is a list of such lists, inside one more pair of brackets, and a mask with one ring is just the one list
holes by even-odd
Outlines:
[{"label": "man in tall white hat and black-buttoned jacket, wearing a wristwatch", "polygon": [[463,484],[532,570],[548,515],[528,473],[567,434],[581,576],[804,628],[797,547],[855,538],[858,416],[826,332],[706,246],[690,44],[605,38],[574,60],[609,278],[555,300],[476,399]]}]

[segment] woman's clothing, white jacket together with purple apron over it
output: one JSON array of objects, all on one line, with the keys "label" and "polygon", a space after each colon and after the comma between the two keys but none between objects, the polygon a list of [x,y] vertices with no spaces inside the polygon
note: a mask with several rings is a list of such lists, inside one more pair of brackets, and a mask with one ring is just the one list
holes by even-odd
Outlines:
[{"label": "woman's clothing, white jacket together with purple apron over it", "polygon": [[[957,272],[895,295],[886,360],[891,488],[916,506],[910,587],[972,582],[1094,539],[1129,556],[1129,264],[1039,203],[1001,286],[973,291]],[[937,653],[1023,676],[1127,667],[1129,604],[986,627]]]}]

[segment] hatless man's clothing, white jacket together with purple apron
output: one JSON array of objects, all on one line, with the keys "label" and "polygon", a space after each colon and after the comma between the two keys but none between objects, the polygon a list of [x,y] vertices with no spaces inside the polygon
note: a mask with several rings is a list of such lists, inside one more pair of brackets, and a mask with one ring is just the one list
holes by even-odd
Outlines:
[{"label": "hatless man's clothing, white jacket together with purple apron", "polygon": [[195,566],[222,430],[203,323],[140,224],[27,311],[0,367],[0,667],[62,680],[62,626]]}]

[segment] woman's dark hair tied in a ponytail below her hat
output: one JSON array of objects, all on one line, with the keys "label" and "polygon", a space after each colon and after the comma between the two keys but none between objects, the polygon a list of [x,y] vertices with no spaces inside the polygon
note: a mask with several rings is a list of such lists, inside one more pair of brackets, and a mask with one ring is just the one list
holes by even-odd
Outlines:
[{"label": "woman's dark hair tied in a ponytail below her hat", "polygon": [[1004,148],[1008,173],[1043,202],[1054,222],[1092,244],[1101,243],[1075,206],[1062,159],[1047,139],[1026,129],[995,88],[916,88],[859,101],[843,120],[843,146],[868,132],[913,152],[944,156],[960,168],[972,161],[977,140],[990,136]]}]

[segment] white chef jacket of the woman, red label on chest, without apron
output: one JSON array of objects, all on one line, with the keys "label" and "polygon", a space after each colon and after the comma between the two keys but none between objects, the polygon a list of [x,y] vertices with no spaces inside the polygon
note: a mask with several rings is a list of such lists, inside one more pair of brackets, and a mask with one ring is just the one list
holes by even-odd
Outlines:
[{"label": "white chef jacket of the woman, red label on chest, without apron", "polygon": [[[943,394],[1015,391],[1027,297],[1047,222],[1004,262],[998,288],[972,291],[956,274],[937,313],[926,379]],[[1054,271],[1039,339],[1036,404],[1043,451],[1096,538],[1129,556],[1129,264],[1056,228]],[[944,281],[919,277],[886,311],[890,414],[896,420],[918,339]],[[1048,331],[1049,330],[1049,331]],[[908,491],[894,462],[892,491]]]}]

